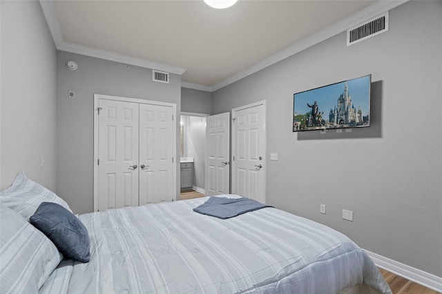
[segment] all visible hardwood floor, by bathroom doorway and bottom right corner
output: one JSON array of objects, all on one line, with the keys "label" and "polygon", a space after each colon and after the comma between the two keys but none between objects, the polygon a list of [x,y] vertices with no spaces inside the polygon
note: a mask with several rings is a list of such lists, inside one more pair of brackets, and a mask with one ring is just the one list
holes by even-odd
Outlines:
[{"label": "all visible hardwood floor, by bathroom doorway and bottom right corner", "polygon": [[[181,192],[180,200],[204,196],[204,194],[198,193],[197,191],[187,190]],[[429,288],[425,288],[420,284],[407,280],[404,277],[390,273],[383,268],[379,268],[379,271],[381,271],[385,281],[387,281],[388,285],[392,289],[393,294],[441,294]]]}]

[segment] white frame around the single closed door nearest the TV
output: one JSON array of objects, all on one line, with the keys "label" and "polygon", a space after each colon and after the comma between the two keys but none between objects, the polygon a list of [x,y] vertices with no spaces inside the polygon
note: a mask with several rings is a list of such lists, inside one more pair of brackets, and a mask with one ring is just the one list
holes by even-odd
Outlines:
[{"label": "white frame around the single closed door nearest the TV", "polygon": [[[266,101],[265,100],[262,100],[262,101],[258,101],[258,102],[254,102],[254,103],[252,103],[252,104],[247,104],[247,105],[244,105],[244,106],[240,106],[240,107],[237,107],[237,108],[233,108],[232,109],[232,116],[231,116],[231,119],[232,119],[232,121],[235,121],[236,120],[236,112],[238,112],[238,111],[240,111],[240,110],[244,110],[244,109],[247,109],[247,108],[253,108],[253,107],[256,107],[256,106],[261,106],[262,105],[262,107],[264,108],[264,111],[263,111],[263,119],[264,119],[264,126],[263,126],[263,130],[262,130],[262,132],[264,133],[264,141],[265,141],[265,144],[264,144],[264,150],[262,150],[262,154],[264,154],[264,164],[265,164],[265,168],[262,168],[262,172],[264,173],[264,175],[262,175],[262,177],[264,178],[264,180],[262,181],[262,185],[263,185],[263,189],[264,189],[264,197],[265,197],[265,199],[264,199],[264,203],[267,201],[267,162],[268,162],[268,160],[267,160],[267,131],[266,131],[266,129],[267,129],[267,121],[266,121],[266,114],[267,114],[267,106],[266,106]],[[233,187],[235,186],[235,181],[236,181],[236,173],[235,173],[235,166],[236,166],[236,161],[234,160],[234,157],[235,157],[235,150],[236,150],[236,124],[234,124],[234,123],[232,123],[231,124],[232,125],[232,132],[231,132],[231,155],[230,155],[230,157],[231,157],[231,176],[230,176],[230,178],[231,178],[231,181],[230,181],[230,188],[231,188],[231,192],[233,193]]]}]

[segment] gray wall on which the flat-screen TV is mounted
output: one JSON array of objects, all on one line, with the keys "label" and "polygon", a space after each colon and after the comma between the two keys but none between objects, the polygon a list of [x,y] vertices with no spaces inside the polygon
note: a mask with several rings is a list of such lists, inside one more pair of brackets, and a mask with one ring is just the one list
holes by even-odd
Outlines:
[{"label": "gray wall on which the flat-screen TV is mounted", "polygon": [[[394,8],[390,30],[372,39],[347,47],[345,37],[214,92],[213,114],[265,99],[267,203],[442,277],[442,1]],[[368,73],[372,127],[292,133],[295,92]],[[342,219],[343,208],[354,222]]]}]

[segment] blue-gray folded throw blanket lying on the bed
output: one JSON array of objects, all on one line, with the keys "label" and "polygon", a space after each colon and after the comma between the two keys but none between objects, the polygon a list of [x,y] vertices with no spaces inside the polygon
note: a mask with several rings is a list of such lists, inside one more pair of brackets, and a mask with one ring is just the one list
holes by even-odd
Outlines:
[{"label": "blue-gray folded throw blanket lying on the bed", "polygon": [[193,208],[196,213],[203,215],[210,215],[220,219],[228,219],[236,217],[249,211],[258,210],[265,207],[273,207],[262,204],[249,198],[224,198],[224,197],[210,197],[209,200],[201,204],[197,208]]}]

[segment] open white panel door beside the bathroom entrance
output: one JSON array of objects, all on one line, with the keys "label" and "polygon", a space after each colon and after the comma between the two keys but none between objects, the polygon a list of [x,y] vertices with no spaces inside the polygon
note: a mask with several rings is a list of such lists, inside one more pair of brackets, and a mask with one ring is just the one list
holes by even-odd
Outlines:
[{"label": "open white panel door beside the bathroom entrance", "polygon": [[229,194],[230,113],[206,117],[206,196]]}]

